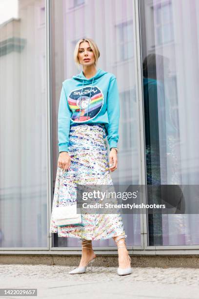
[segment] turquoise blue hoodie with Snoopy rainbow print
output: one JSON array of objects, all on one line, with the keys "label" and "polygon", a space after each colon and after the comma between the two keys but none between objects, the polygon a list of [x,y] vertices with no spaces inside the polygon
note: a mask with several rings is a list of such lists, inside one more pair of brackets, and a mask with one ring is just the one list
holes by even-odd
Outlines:
[{"label": "turquoise blue hoodie with Snoopy rainbow print", "polygon": [[119,139],[119,92],[116,77],[97,70],[87,79],[83,71],[62,83],[58,111],[59,152],[68,151],[70,126],[104,124],[109,147]]}]

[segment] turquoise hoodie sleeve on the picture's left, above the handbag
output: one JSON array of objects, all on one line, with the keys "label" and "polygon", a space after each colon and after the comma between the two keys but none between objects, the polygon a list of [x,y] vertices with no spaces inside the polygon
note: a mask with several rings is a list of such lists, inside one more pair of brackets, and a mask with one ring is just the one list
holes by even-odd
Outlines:
[{"label": "turquoise hoodie sleeve on the picture's left, above the handbag", "polygon": [[69,108],[65,89],[62,83],[60,104],[59,104],[59,111],[58,111],[59,152],[68,151],[71,115],[72,115],[72,111]]}]

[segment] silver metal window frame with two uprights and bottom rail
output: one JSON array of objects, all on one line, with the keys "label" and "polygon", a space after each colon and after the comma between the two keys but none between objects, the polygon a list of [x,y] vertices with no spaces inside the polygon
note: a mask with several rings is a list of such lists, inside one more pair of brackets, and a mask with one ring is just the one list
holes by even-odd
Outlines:
[{"label": "silver metal window frame with two uprights and bottom rail", "polygon": [[[141,184],[145,185],[146,170],[145,170],[145,154],[144,154],[144,115],[143,115],[143,93],[142,93],[142,74],[141,74],[141,39],[140,39],[140,0],[133,1],[134,13],[134,38],[135,38],[135,72],[136,77],[136,92],[139,108],[139,147],[141,149]],[[51,41],[50,41],[50,8],[51,0],[45,0],[45,51],[46,51],[46,111],[47,111],[47,247],[36,248],[0,248],[0,254],[9,255],[80,255],[80,247],[52,247],[52,234],[49,232],[51,218],[51,198],[52,198],[52,99],[51,99]],[[127,246],[131,255],[199,255],[199,245],[179,245],[179,246],[148,246],[147,235],[147,215],[140,214],[140,246]],[[98,255],[117,255],[117,247],[94,247]]]}]

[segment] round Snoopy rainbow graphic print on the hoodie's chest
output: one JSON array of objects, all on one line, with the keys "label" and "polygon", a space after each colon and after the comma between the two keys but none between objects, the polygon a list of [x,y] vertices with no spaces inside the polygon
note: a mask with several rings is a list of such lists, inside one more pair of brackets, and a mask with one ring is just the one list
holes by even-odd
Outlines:
[{"label": "round Snoopy rainbow graphic print on the hoodie's chest", "polygon": [[72,90],[68,96],[68,105],[72,110],[71,120],[85,122],[98,115],[103,106],[103,93],[98,86],[85,86]]}]

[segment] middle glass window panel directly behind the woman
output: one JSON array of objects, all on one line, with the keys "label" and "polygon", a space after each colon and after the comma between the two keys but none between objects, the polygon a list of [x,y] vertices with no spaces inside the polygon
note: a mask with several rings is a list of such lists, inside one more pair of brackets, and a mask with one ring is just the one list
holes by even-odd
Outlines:
[{"label": "middle glass window panel directly behind the woman", "polygon": [[[100,48],[98,67],[114,73],[120,95],[119,163],[112,173],[115,184],[138,184],[140,162],[138,151],[138,115],[136,103],[135,61],[128,60],[133,53],[132,0],[87,0],[78,10],[70,10],[68,0],[52,0],[52,128],[53,128],[53,186],[57,172],[58,136],[57,117],[62,82],[80,72],[73,59],[75,43],[83,36],[95,40]],[[92,26],[88,22],[92,16]],[[80,25],[81,20],[81,25]],[[126,25],[127,21],[130,25]],[[124,43],[124,39],[125,42]],[[124,48],[126,50],[124,50]],[[124,54],[124,51],[126,51]],[[124,58],[126,59],[124,61]],[[132,92],[134,90],[134,92]],[[136,163],[135,163],[136,161]],[[139,215],[122,215],[127,245],[140,245]],[[112,239],[94,241],[94,246],[115,246]],[[62,238],[54,234],[53,246],[80,246],[76,238]]]}]

